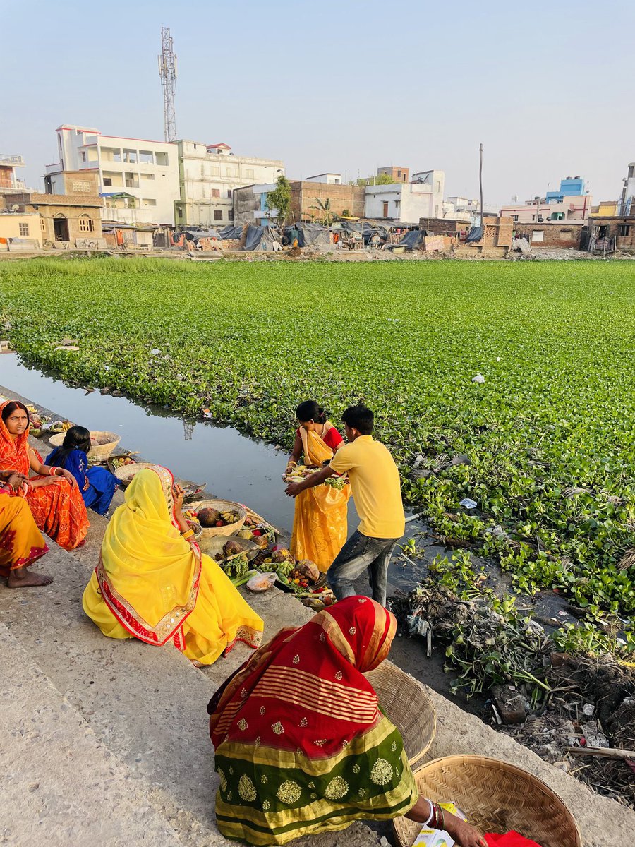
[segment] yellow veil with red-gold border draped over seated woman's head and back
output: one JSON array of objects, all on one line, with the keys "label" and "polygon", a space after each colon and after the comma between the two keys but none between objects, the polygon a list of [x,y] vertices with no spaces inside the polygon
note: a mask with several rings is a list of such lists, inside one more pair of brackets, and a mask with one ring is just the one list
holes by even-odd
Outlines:
[{"label": "yellow veil with red-gold border draped over seated woman's head and back", "polygon": [[174,639],[196,604],[201,578],[197,545],[174,518],[174,478],[159,465],[143,468],[126,489],[102,541],[97,581],[119,623],[147,644]]}]

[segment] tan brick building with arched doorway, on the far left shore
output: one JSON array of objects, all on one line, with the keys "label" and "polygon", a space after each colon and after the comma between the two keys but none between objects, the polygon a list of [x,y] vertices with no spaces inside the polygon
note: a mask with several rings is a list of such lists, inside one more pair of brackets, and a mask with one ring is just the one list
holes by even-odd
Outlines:
[{"label": "tan brick building with arched doorway, on the far left shore", "polygon": [[99,196],[97,171],[58,171],[48,174],[45,184],[45,194],[35,191],[5,194],[7,208],[17,205],[16,211],[38,212],[42,242],[62,242],[63,246],[75,247],[77,241],[102,238],[103,200]]}]

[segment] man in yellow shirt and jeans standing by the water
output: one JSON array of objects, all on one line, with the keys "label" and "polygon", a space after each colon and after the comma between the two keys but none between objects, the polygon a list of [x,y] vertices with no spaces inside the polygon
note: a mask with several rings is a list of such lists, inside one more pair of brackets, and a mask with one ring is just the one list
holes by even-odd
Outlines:
[{"label": "man in yellow shirt and jeans standing by the water", "polygon": [[373,600],[385,606],[390,556],[406,526],[399,471],[388,449],[373,439],[370,409],[351,406],[342,420],[349,443],[335,453],[328,467],[289,484],[286,493],[295,497],[334,473],[348,473],[362,521],[329,567],[329,585],[338,600],[350,597],[356,594],[354,581],[369,569]]}]

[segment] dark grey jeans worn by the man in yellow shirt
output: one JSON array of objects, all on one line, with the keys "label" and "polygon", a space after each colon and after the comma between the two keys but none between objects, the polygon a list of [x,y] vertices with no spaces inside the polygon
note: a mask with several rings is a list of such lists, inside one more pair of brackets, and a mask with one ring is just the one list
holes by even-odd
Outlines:
[{"label": "dark grey jeans worn by the man in yellow shirt", "polygon": [[398,538],[370,538],[356,529],[327,571],[329,586],[336,599],[344,600],[355,595],[353,582],[369,569],[373,600],[385,606],[388,566],[397,541]]}]

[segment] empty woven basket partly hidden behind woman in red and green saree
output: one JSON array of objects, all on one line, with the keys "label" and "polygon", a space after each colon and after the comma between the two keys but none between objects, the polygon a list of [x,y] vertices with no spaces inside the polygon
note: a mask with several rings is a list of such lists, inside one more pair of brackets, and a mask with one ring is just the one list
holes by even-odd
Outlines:
[{"label": "empty woven basket partly hidden behind woman in red and green saree", "polygon": [[429,749],[437,730],[436,712],[425,689],[390,662],[364,676],[375,689],[386,717],[399,729],[408,761],[414,765]]}]

